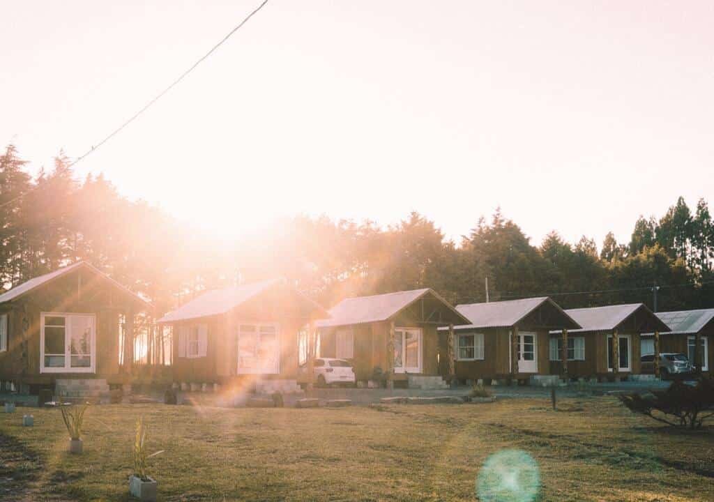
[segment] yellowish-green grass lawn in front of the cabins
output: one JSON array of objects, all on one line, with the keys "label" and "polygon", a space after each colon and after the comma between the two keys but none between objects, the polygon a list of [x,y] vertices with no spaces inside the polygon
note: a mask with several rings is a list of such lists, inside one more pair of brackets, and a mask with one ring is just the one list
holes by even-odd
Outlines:
[{"label": "yellowish-green grass lawn in front of the cabins", "polygon": [[[58,410],[0,413],[0,501],[125,501],[136,418],[159,500],[473,501],[488,455],[521,448],[541,501],[714,501],[714,430],[678,432],[615,398],[377,408],[111,405],[66,453]],[[35,426],[21,427],[23,413]]]}]

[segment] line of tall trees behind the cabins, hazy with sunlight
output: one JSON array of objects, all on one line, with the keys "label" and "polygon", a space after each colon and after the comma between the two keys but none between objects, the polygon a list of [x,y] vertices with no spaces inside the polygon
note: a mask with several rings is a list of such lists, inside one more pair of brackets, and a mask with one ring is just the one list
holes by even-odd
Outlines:
[{"label": "line of tall trees behind the cabins, hazy with sunlight", "polygon": [[714,224],[705,200],[679,198],[635,221],[627,243],[600,246],[557,232],[540,246],[501,211],[458,242],[411,213],[396,225],[295,216],[225,244],[101,174],[78,181],[64,154],[36,176],[13,145],[0,155],[0,285],[10,288],[87,260],[160,312],[208,288],[282,276],[332,306],[346,296],[431,287],[452,303],[551,295],[565,308],[644,302],[658,310],[714,306]]}]

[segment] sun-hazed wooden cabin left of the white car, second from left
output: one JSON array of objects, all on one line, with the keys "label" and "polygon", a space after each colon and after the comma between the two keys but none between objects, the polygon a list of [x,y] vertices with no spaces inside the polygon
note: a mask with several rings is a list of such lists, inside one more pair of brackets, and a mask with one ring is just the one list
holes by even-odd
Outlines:
[{"label": "sun-hazed wooden cabin left of the white car, second from left", "polygon": [[273,280],[206,291],[159,323],[173,328],[177,383],[270,393],[299,391],[301,333],[327,316],[295,288]]}]

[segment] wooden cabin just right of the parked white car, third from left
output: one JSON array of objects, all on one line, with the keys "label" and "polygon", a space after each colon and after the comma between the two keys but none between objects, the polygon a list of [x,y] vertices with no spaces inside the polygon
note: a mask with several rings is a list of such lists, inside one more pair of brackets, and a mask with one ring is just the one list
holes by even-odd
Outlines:
[{"label": "wooden cabin just right of the parked white car, third from left", "polygon": [[319,354],[352,361],[358,382],[439,388],[448,376],[447,335],[466,319],[431,289],[346,298],[317,323]]}]

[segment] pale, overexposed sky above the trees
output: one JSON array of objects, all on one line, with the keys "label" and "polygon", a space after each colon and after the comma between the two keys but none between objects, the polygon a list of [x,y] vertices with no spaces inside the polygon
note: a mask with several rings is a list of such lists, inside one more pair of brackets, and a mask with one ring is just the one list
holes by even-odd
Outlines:
[{"label": "pale, overexposed sky above the trees", "polygon": [[[83,154],[259,0],[1,0],[0,144]],[[627,242],[678,196],[714,204],[708,1],[270,0],[76,165],[205,231],[296,214],[448,238],[501,207]]]}]

